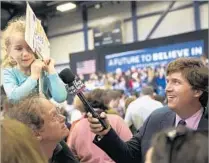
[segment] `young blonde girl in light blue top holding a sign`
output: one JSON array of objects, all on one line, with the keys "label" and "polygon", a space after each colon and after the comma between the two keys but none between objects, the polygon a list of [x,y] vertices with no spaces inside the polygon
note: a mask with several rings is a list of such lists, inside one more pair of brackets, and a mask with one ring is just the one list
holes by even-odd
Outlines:
[{"label": "young blonde girl in light blue top holding a sign", "polygon": [[3,32],[3,86],[8,99],[17,102],[38,92],[40,79],[43,83],[42,92],[47,98],[53,98],[59,103],[65,101],[67,91],[56,73],[54,60],[36,59],[24,35],[25,20],[22,17],[10,21]]}]

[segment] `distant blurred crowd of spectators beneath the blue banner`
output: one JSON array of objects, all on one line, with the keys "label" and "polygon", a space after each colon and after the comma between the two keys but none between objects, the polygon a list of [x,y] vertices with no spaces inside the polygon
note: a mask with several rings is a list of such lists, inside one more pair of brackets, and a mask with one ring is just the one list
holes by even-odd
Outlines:
[{"label": "distant blurred crowd of spectators beneath the blue banner", "polygon": [[[89,75],[89,79],[85,80],[86,90],[95,88],[104,89],[121,89],[126,95],[138,95],[144,86],[152,86],[156,94],[165,96],[165,68],[166,65],[157,67],[135,68],[122,72],[120,68],[115,73],[98,73]],[[79,75],[84,79],[83,75]]]}]

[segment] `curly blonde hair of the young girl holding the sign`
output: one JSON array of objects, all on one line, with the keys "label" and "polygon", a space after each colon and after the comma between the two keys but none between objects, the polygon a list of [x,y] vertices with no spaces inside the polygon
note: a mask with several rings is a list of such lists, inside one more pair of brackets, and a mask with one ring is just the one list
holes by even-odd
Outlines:
[{"label": "curly blonde hair of the young girl holding the sign", "polygon": [[12,33],[21,32],[25,34],[25,17],[17,17],[8,22],[7,27],[2,33],[1,39],[1,61],[2,67],[14,67],[16,62],[9,57],[8,47],[11,44],[10,38]]}]

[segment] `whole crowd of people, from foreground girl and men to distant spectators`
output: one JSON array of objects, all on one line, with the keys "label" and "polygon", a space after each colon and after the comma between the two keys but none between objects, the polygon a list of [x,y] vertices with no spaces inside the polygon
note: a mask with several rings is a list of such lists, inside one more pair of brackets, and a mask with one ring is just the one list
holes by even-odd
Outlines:
[{"label": "whole crowd of people, from foreground girl and men to distant spectators", "polygon": [[200,59],[92,75],[84,97],[104,128],[78,96],[80,117],[66,120],[54,60],[38,59],[24,33],[17,18],[2,35],[2,163],[208,162],[208,67]]}]

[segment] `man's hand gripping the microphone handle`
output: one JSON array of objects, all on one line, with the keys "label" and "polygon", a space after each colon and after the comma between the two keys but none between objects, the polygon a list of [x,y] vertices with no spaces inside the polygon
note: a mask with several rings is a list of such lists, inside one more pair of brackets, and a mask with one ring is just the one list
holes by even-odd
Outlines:
[{"label": "man's hand gripping the microphone handle", "polygon": [[103,118],[105,120],[106,124],[108,125],[108,128],[105,130],[103,130],[103,127],[100,124],[99,120],[97,118],[92,117],[91,113],[88,113],[87,117],[88,117],[88,121],[90,123],[91,132],[95,133],[96,135],[104,136],[110,131],[111,126],[110,126],[109,121],[107,119],[107,115],[104,112],[102,112],[100,114],[100,117]]}]

